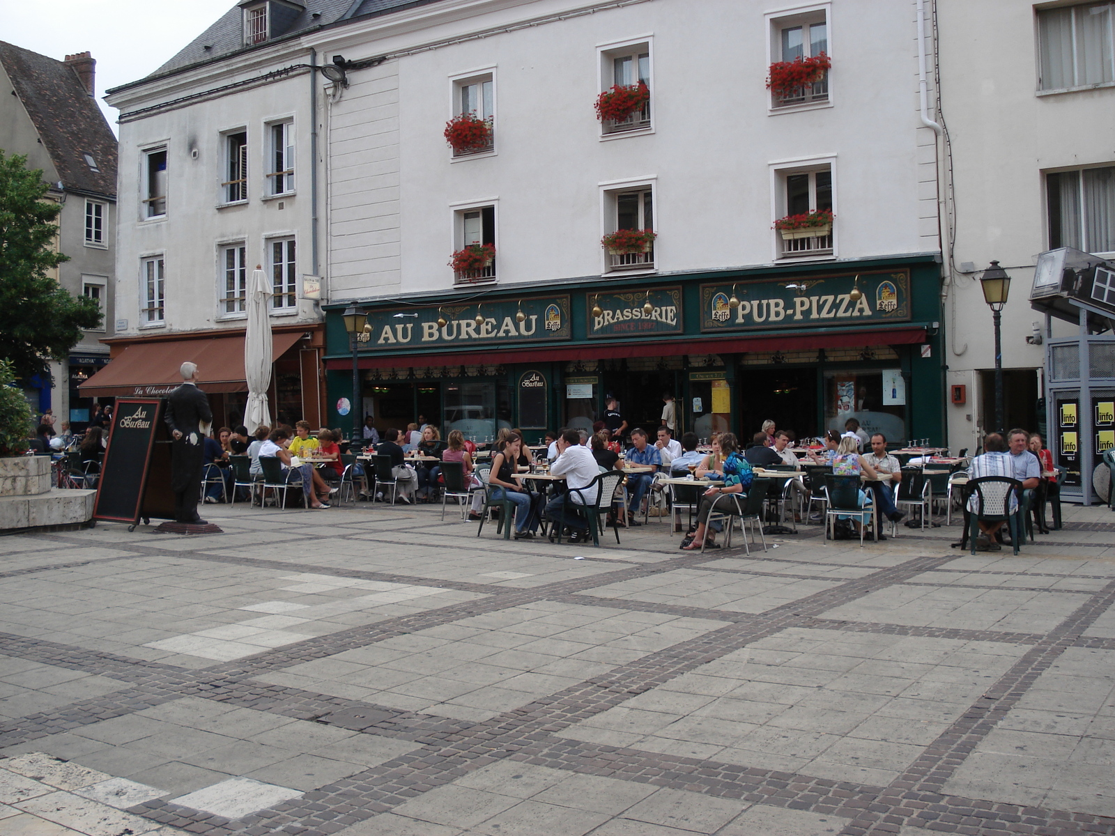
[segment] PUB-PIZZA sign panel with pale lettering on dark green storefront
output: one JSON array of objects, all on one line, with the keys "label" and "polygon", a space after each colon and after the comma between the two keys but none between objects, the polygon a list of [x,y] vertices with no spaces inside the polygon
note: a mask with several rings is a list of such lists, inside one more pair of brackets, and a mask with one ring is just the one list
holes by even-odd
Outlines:
[{"label": "PUB-PIZZA sign panel with pale lettering on dark green storefront", "polygon": [[702,284],[700,300],[702,331],[904,322],[910,319],[910,273],[888,270]]}]

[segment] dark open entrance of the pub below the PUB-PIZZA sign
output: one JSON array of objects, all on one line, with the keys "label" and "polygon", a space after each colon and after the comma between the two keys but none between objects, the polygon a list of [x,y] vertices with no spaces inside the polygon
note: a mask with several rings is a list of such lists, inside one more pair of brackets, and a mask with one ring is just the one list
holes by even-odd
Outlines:
[{"label": "dark open entrance of the pub below the PUB-PIZZA sign", "polygon": [[739,440],[745,446],[773,420],[778,429],[797,439],[815,436],[817,429],[817,370],[815,368],[740,368]]}]

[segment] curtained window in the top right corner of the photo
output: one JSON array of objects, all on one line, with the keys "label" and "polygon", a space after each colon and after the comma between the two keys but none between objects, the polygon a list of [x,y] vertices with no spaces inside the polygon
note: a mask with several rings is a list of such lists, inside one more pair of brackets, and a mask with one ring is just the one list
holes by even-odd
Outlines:
[{"label": "curtained window in the top right corner of the photo", "polygon": [[1038,89],[1061,90],[1115,81],[1115,2],[1038,10]]}]

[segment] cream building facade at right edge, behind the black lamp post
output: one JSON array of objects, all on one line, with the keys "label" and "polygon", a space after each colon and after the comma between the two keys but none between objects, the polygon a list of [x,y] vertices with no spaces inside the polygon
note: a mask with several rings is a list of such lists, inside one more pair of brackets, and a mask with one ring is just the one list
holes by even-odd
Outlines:
[{"label": "cream building facade at right edge, behind the black lamp post", "polygon": [[1044,342],[1076,331],[1059,320],[1047,330],[1030,308],[1036,256],[1060,246],[1115,253],[1115,3],[944,0],[937,13],[948,382],[950,392],[963,387],[963,402],[949,406],[949,438],[976,448],[995,428],[982,271],[996,260],[1012,279],[1002,311],[1006,428],[1036,431],[1046,420]]}]

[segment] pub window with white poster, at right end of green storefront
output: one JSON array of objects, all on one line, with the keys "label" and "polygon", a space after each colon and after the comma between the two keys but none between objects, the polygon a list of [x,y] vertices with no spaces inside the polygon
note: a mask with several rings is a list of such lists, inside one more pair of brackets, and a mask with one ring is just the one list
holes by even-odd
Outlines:
[{"label": "pub window with white poster, at right end of green storefront", "polygon": [[825,372],[825,429],[844,431],[849,418],[869,436],[882,432],[891,445],[906,440],[905,380],[899,369]]}]

